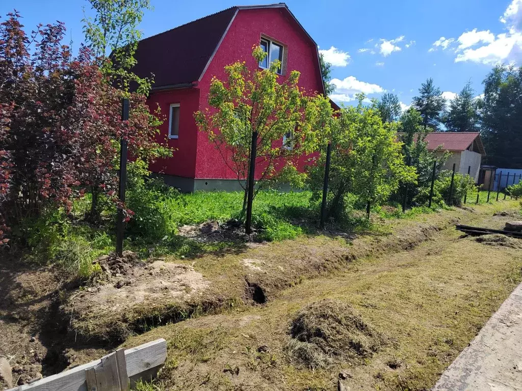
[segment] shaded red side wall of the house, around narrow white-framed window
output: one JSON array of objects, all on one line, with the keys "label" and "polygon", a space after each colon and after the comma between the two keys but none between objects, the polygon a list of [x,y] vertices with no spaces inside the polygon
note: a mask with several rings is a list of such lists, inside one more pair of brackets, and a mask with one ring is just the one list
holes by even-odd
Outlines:
[{"label": "shaded red side wall of the house, around narrow white-framed window", "polygon": [[174,148],[173,156],[168,159],[158,159],[150,165],[155,173],[177,175],[194,178],[196,173],[196,145],[197,126],[193,114],[199,108],[199,89],[183,89],[162,92],[153,92],[148,99],[151,111],[158,105],[161,108],[163,125],[160,127],[158,140],[165,140],[169,134],[169,109],[172,103],[180,104],[179,138],[169,139],[168,143]]}]

